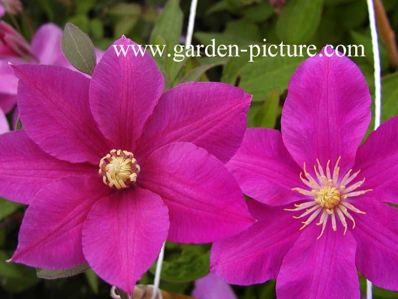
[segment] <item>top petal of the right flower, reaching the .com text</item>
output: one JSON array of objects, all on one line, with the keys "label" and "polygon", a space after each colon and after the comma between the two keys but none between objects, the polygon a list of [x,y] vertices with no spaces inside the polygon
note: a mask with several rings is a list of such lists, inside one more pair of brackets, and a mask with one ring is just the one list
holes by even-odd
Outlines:
[{"label": "top petal of the right flower, reaching the .com text", "polygon": [[[328,50],[330,53],[330,50]],[[293,74],[282,111],[283,141],[298,165],[322,165],[342,156],[341,171],[353,164],[368,128],[371,96],[358,66],[347,57],[305,60]]]}]

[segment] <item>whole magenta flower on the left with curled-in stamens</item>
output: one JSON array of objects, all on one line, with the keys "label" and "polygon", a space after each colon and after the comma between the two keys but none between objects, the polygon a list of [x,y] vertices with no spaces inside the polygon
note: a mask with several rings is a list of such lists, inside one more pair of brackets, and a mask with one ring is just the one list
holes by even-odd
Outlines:
[{"label": "whole magenta flower on the left with curled-in stamens", "polygon": [[166,239],[212,242],[253,223],[224,165],[246,129],[251,96],[241,89],[186,83],[162,95],[149,54],[117,57],[113,47],[91,80],[57,66],[14,69],[25,131],[0,136],[0,196],[30,206],[12,261],[87,261],[131,293]]}]

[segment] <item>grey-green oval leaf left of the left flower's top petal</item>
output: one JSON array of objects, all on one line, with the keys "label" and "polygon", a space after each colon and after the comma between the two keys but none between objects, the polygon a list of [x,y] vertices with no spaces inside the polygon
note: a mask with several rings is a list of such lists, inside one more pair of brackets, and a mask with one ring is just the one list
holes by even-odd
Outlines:
[{"label": "grey-green oval leaf left of the left flower's top petal", "polygon": [[79,71],[92,75],[97,65],[94,44],[90,37],[72,23],[65,25],[61,39],[62,52]]}]

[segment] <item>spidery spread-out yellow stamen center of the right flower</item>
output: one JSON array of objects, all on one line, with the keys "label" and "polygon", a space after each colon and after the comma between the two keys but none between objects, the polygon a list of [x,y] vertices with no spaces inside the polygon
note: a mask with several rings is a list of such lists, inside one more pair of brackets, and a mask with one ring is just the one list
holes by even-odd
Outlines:
[{"label": "spidery spread-out yellow stamen center of the right flower", "polygon": [[337,214],[341,224],[344,226],[343,234],[345,235],[347,232],[346,217],[353,223],[352,228],[355,228],[355,220],[348,210],[358,214],[366,214],[365,212],[354,207],[349,201],[352,199],[352,197],[365,194],[368,191],[372,191],[372,189],[354,191],[365,181],[365,178],[363,178],[361,181],[351,183],[361,170],[351,174],[352,169],[350,169],[344,175],[344,177],[340,179],[340,167],[338,166],[340,158],[341,157],[337,159],[332,173],[329,167],[330,160],[327,161],[325,169],[326,171],[324,171],[323,167],[319,163],[319,160],[316,159],[317,165],[314,165],[314,173],[316,178],[313,178],[306,171],[304,162],[303,172],[305,178],[302,177],[302,172],[300,172],[300,179],[306,186],[308,186],[309,189],[293,188],[292,190],[298,191],[303,195],[307,195],[311,198],[311,200],[300,204],[295,204],[296,208],[294,209],[285,209],[286,211],[299,211],[305,209],[305,212],[303,212],[301,215],[293,216],[293,218],[299,219],[309,215],[307,220],[301,222],[303,225],[300,227],[300,230],[309,225],[313,220],[315,220],[315,218],[318,217],[318,215],[320,215],[319,222],[316,223],[316,225],[322,225],[322,230],[317,239],[322,236],[329,216],[331,218],[332,228],[334,231],[336,231]]}]

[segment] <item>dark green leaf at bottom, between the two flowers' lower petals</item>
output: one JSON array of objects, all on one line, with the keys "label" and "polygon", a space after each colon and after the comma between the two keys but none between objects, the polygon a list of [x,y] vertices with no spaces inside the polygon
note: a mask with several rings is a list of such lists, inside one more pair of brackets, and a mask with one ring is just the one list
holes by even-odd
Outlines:
[{"label": "dark green leaf at bottom, between the two flowers' lower petals", "polygon": [[[169,282],[194,281],[209,272],[210,252],[199,245],[182,245],[181,254],[173,260],[164,261],[161,278]],[[156,263],[151,272],[155,272]]]}]

